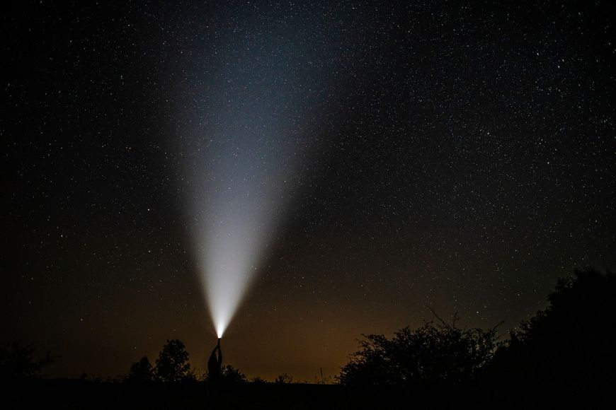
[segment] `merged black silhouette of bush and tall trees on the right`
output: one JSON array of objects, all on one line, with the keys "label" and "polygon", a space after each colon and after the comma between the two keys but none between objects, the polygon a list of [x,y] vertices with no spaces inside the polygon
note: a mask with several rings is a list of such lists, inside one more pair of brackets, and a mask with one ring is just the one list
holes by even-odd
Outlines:
[{"label": "merged black silhouette of bush and tall trees on the right", "polygon": [[377,402],[413,394],[418,408],[495,402],[507,409],[611,408],[616,276],[575,271],[559,279],[548,300],[496,352],[496,329],[460,329],[440,319],[400,329],[392,339],[365,336],[338,381],[370,387]]}]

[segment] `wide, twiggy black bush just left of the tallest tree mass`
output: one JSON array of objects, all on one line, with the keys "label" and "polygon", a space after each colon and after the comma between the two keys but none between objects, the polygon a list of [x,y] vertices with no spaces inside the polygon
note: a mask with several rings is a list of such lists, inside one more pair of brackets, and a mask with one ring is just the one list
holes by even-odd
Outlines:
[{"label": "wide, twiggy black bush just left of the tallest tree mass", "polygon": [[494,353],[496,328],[461,329],[455,325],[456,316],[452,324],[436,317],[437,322],[425,322],[414,331],[400,329],[392,339],[364,335],[338,381],[353,386],[409,386],[472,380]]}]

